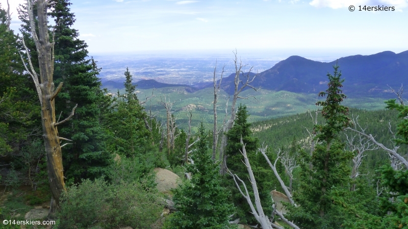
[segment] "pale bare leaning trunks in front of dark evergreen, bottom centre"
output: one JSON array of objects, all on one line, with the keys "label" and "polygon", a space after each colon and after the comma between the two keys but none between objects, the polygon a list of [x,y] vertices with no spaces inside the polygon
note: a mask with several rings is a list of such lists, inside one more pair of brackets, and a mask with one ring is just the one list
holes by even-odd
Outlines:
[{"label": "pale bare leaning trunks in front of dark evergreen, bottom centre", "polygon": [[[278,226],[271,222],[271,220],[268,219],[268,217],[265,215],[264,210],[261,205],[261,198],[259,197],[259,192],[258,192],[258,187],[257,187],[257,181],[255,180],[255,177],[253,176],[252,168],[249,163],[246,150],[245,150],[245,145],[244,142],[241,138],[241,144],[242,144],[242,151],[241,154],[244,156],[244,164],[246,165],[246,168],[248,170],[249,174],[249,181],[251,183],[252,189],[253,189],[253,196],[255,198],[255,206],[253,206],[251,198],[249,196],[248,189],[246,188],[246,185],[243,180],[241,180],[236,174],[233,174],[229,169],[226,169],[227,173],[231,175],[234,179],[235,185],[237,186],[238,190],[240,191],[241,195],[246,199],[249,207],[251,208],[253,216],[257,219],[257,221],[261,224],[262,228],[267,229],[267,228],[279,228],[283,229],[283,227]],[[240,184],[238,181],[244,186],[245,193],[242,191]],[[281,217],[282,220],[288,223],[293,228],[299,229],[298,226],[296,226],[294,223],[290,222],[287,220],[282,213],[279,213],[276,211],[276,214]]]}]

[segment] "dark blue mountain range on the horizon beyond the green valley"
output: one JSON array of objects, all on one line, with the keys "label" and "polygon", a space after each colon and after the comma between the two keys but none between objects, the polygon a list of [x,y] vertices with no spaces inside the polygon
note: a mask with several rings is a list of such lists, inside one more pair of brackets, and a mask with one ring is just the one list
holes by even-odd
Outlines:
[{"label": "dark blue mountain range on the horizon beyond the green valley", "polygon": [[[318,93],[327,88],[327,72],[333,74],[333,65],[336,62],[340,66],[342,78],[345,78],[343,89],[346,95],[381,96],[389,93],[387,84],[394,89],[399,89],[401,83],[408,85],[408,51],[398,54],[384,51],[373,55],[352,55],[329,63],[294,55],[257,74],[251,85],[272,91]],[[221,88],[230,94],[234,92],[234,75],[222,79]],[[246,76],[246,73],[244,75]],[[250,77],[254,75],[255,73],[250,73]],[[104,87],[109,85],[109,89],[115,87],[117,82],[106,81],[103,84]],[[141,80],[136,84],[140,89],[186,87],[188,92],[213,85],[167,84],[153,79]],[[123,83],[118,88],[123,88]]]}]

